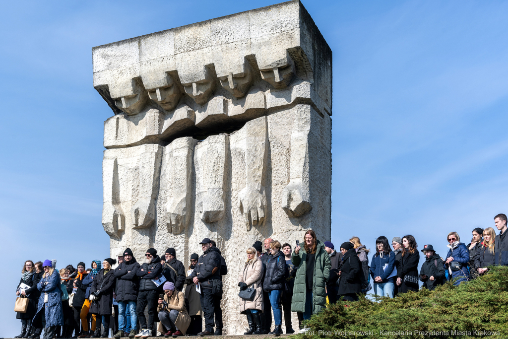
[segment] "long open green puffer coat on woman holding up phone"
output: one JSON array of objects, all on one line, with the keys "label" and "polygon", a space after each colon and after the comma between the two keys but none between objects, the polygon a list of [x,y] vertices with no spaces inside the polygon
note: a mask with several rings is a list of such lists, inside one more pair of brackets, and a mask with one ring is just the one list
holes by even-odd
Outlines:
[{"label": "long open green puffer coat on woman holding up phone", "polygon": [[[325,245],[320,240],[316,240],[316,253],[314,261],[314,275],[312,277],[312,314],[317,314],[323,310],[326,305],[326,282],[330,278],[330,256],[325,251]],[[303,241],[302,241],[303,244]],[[307,253],[302,246],[299,253],[293,252],[291,262],[298,266],[295,276],[295,285],[293,288],[293,298],[291,301],[292,312],[305,312],[306,270]]]}]

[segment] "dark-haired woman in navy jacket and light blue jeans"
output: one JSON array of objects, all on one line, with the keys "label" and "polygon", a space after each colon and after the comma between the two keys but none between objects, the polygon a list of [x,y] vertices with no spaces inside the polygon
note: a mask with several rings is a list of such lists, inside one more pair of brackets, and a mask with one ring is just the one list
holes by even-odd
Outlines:
[{"label": "dark-haired woman in navy jacket and light blue jeans", "polygon": [[374,281],[374,294],[393,298],[395,253],[390,249],[388,238],[380,236],[376,239],[376,254],[370,262],[370,275]]}]

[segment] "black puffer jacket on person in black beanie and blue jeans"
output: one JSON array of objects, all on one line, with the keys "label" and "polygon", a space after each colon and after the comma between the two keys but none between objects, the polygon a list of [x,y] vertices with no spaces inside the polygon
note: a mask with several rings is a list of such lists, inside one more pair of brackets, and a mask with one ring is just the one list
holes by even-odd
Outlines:
[{"label": "black puffer jacket on person in black beanie and blue jeans", "polygon": [[116,278],[116,301],[137,301],[139,278],[136,275],[140,268],[136,258],[129,262],[122,262],[114,270]]}]

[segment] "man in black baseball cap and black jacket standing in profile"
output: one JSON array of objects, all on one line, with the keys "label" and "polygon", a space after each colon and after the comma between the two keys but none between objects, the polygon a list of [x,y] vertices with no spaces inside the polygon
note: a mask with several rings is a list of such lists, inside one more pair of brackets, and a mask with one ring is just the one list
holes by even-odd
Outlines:
[{"label": "man in black baseball cap and black jacket standing in profile", "polygon": [[199,332],[201,336],[214,335],[214,309],[220,307],[222,299],[222,281],[220,280],[220,251],[211,244],[211,240],[204,238],[200,242],[203,255],[192,273],[195,284],[201,287],[201,309],[205,317],[205,330]]}]

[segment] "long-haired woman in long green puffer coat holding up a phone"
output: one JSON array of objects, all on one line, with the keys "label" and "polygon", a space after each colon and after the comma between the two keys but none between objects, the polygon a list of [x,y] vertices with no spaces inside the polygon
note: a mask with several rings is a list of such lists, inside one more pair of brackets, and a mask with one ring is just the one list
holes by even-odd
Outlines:
[{"label": "long-haired woman in long green puffer coat holding up a phone", "polygon": [[297,246],[291,262],[298,266],[291,302],[292,312],[303,313],[303,319],[319,313],[326,305],[326,282],[330,276],[330,256],[314,231],[305,232],[304,246]]}]

